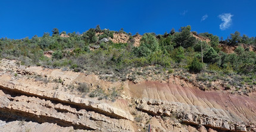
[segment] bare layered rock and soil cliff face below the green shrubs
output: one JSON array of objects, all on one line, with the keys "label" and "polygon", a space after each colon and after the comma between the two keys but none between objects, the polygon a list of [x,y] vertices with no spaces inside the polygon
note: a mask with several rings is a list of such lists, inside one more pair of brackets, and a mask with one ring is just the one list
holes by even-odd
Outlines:
[{"label": "bare layered rock and soil cliff face below the green shrubs", "polygon": [[[1,60],[0,69],[0,131],[256,131],[255,94],[201,91],[176,77],[113,83],[14,60]],[[67,90],[81,82],[121,95],[113,102]]]}]

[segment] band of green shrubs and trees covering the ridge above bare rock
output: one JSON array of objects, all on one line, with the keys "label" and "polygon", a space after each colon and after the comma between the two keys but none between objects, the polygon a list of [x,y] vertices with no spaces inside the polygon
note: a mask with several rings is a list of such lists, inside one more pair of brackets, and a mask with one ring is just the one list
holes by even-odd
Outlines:
[{"label": "band of green shrubs and trees covering the ridge above bare rock", "polygon": [[[113,38],[115,33],[129,35],[128,43],[102,40]],[[63,34],[66,37],[61,37]],[[65,31],[60,34],[58,29],[54,28],[52,36],[44,33],[42,37],[34,36],[31,39],[1,38],[0,54],[2,58],[20,60],[20,65],[111,75],[101,76],[110,81],[134,80],[135,75],[149,75],[145,72],[147,70],[143,69],[155,66],[155,69],[160,70],[155,71],[154,74],[161,74],[161,71],[172,73],[173,69],[184,69],[191,73],[198,73],[198,79],[202,73],[217,73],[216,76],[223,75],[230,76],[230,78],[233,78],[232,76],[242,78],[243,76],[246,79],[240,82],[254,86],[256,54],[248,48],[243,49],[240,44],[255,47],[256,37],[249,38],[246,35],[242,37],[240,35],[236,31],[224,40],[229,46],[238,46],[234,53],[228,54],[221,51],[217,36],[209,33],[196,34],[196,36],[211,40],[209,43],[199,41],[192,36],[189,25],[181,27],[179,32],[171,30],[169,34],[164,35],[145,33],[139,47],[133,46],[135,41],[133,36],[124,32],[123,29],[118,32],[101,30],[97,25],[96,28],[91,28],[82,34],[75,32],[66,34]],[[44,54],[46,51],[52,53],[52,57],[46,57]],[[145,73],[142,70],[135,72],[133,68],[141,68]],[[239,84],[232,83],[233,86]]]}]

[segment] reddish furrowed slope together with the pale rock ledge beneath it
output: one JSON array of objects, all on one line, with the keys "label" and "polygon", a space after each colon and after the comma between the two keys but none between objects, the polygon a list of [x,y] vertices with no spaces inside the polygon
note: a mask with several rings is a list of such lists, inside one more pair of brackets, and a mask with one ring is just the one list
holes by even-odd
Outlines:
[{"label": "reddish furrowed slope together with the pale rock ledge beneath it", "polygon": [[178,78],[169,83],[129,83],[138,109],[149,115],[172,113],[183,123],[217,130],[246,131],[256,123],[256,98],[219,91],[201,91]]}]

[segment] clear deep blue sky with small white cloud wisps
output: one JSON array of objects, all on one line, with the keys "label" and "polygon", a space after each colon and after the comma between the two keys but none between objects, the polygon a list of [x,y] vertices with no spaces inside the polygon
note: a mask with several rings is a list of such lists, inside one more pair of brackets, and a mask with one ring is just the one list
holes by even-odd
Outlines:
[{"label": "clear deep blue sky with small white cloud wisps", "polygon": [[[102,29],[127,33],[169,33],[191,25],[192,31],[224,39],[239,31],[256,37],[256,1],[10,1],[0,0],[0,38],[24,38],[60,31]],[[222,18],[222,20],[221,20]],[[222,23],[222,24],[221,24]],[[220,26],[221,25],[221,26]]]}]

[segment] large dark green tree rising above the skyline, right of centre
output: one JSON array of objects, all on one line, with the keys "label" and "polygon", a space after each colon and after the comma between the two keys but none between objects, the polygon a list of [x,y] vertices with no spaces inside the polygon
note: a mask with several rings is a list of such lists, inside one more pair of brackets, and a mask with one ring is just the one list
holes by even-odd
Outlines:
[{"label": "large dark green tree rising above the skyline, right of centre", "polygon": [[191,35],[191,26],[180,28],[179,33],[174,34],[173,38],[177,46],[191,47],[196,43],[196,38]]}]

